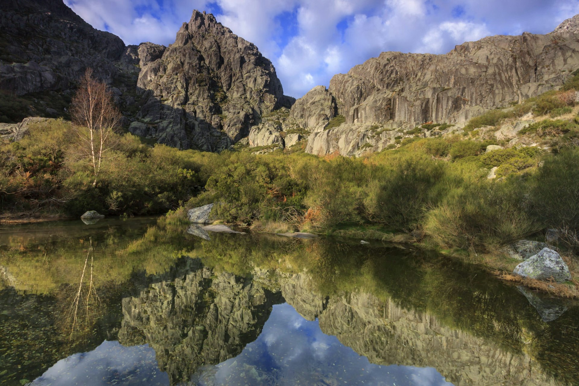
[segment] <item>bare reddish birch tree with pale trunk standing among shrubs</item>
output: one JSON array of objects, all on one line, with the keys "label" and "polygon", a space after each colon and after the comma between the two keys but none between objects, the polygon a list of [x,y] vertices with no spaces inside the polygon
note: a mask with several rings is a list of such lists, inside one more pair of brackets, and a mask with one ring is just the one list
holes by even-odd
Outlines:
[{"label": "bare reddish birch tree with pale trunk standing among shrubs", "polygon": [[113,102],[107,85],[93,78],[93,70],[87,68],[80,80],[80,87],[71,102],[71,117],[77,127],[82,145],[83,156],[86,156],[93,167],[94,182],[97,184],[103,155],[115,144],[115,129],[119,125],[121,114]]}]

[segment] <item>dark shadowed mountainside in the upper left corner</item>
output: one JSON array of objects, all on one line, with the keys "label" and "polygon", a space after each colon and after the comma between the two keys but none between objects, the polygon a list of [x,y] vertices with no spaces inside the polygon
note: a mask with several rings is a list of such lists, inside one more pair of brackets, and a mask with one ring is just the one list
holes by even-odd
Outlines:
[{"label": "dark shadowed mountainside in the upper left corner", "polygon": [[16,95],[67,90],[87,67],[110,82],[123,41],[95,30],[61,0],[5,0],[0,12],[0,89]]}]

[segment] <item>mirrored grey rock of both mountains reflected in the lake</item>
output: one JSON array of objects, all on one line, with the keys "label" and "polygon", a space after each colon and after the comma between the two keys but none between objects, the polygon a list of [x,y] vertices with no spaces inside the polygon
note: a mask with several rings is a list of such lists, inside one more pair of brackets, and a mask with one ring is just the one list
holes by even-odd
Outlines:
[{"label": "mirrored grey rock of both mountains reflected in the lake", "polygon": [[261,332],[272,305],[285,300],[372,363],[434,367],[455,385],[561,384],[525,351],[500,348],[368,292],[321,295],[309,274],[257,270],[240,277],[183,259],[170,273],[142,282],[146,289],[123,299],[119,340],[151,345],[172,383],[240,354]]}]

